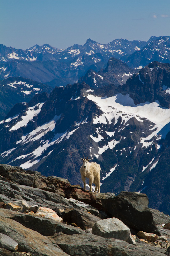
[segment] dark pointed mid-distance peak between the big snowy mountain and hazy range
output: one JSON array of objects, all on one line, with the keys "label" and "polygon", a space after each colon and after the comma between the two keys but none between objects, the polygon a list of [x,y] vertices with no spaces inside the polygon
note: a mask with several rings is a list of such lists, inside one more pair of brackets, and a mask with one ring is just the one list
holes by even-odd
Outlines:
[{"label": "dark pointed mid-distance peak between the big snowy mountain and hazy range", "polygon": [[110,58],[104,70],[101,69],[100,72],[95,72],[90,69],[85,76],[80,77],[78,83],[85,82],[92,88],[108,84],[119,86],[125,84],[133,74],[135,74],[134,70],[125,63],[118,59]]}]

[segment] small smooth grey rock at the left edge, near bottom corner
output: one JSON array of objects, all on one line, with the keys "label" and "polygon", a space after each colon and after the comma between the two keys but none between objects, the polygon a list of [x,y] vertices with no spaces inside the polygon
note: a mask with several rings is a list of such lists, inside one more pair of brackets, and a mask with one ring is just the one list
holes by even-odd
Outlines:
[{"label": "small smooth grey rock at the left edge, near bottom corner", "polygon": [[18,243],[13,240],[10,236],[0,233],[0,247],[16,252],[18,249]]}]

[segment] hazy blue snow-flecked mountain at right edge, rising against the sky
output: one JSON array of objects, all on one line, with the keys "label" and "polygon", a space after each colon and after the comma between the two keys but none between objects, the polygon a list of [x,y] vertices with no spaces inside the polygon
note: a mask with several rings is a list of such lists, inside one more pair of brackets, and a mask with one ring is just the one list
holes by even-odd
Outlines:
[{"label": "hazy blue snow-flecked mountain at right edge, rising against the sky", "polygon": [[130,68],[144,68],[152,61],[170,63],[170,37],[152,38],[141,50],[132,53],[122,60]]}]

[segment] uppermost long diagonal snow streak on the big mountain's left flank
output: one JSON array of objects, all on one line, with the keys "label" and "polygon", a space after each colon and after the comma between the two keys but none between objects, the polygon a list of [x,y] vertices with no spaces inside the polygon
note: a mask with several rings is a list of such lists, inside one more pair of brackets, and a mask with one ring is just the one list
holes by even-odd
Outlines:
[{"label": "uppermost long diagonal snow streak on the big mountain's left flank", "polygon": [[[44,103],[38,103],[33,107],[29,107],[28,111],[26,111],[26,116],[22,116],[22,120],[16,123],[9,131],[18,130],[19,128],[26,126],[30,120],[33,119],[34,116],[37,116]],[[38,109],[35,110],[35,108],[38,107]]]}]

